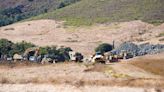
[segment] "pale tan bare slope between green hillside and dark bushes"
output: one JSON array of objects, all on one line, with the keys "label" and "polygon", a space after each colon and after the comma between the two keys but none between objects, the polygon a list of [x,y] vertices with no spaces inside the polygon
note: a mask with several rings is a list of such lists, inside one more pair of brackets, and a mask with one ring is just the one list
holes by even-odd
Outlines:
[{"label": "pale tan bare slope between green hillside and dark bushes", "polygon": [[35,20],[0,27],[0,33],[0,38],[14,42],[68,46],[85,55],[92,54],[99,44],[112,44],[113,40],[116,45],[125,41],[164,43],[164,24],[156,27],[142,21],[65,27],[55,20]]}]

